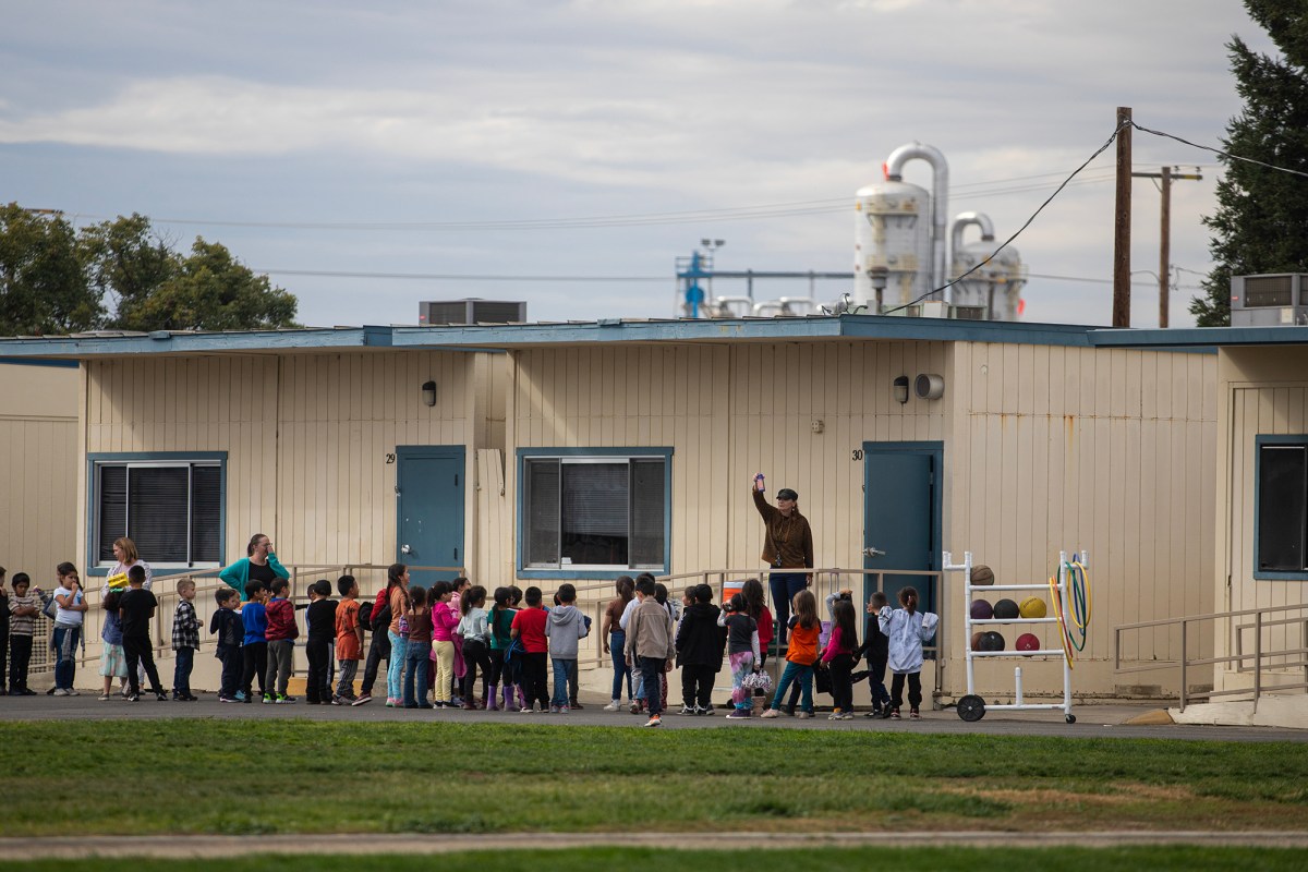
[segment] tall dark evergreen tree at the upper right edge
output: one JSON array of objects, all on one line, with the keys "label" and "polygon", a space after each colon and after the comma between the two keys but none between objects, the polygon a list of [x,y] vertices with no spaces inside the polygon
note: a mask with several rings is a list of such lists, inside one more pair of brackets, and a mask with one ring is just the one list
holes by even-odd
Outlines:
[{"label": "tall dark evergreen tree at the upper right edge", "polygon": [[[1252,51],[1239,37],[1227,43],[1244,111],[1227,124],[1233,156],[1308,173],[1308,13],[1303,0],[1245,0],[1249,16],[1281,51]],[[1231,323],[1231,276],[1308,272],[1308,179],[1245,161],[1222,158],[1213,231],[1215,265],[1205,295],[1190,302],[1201,327]]]}]

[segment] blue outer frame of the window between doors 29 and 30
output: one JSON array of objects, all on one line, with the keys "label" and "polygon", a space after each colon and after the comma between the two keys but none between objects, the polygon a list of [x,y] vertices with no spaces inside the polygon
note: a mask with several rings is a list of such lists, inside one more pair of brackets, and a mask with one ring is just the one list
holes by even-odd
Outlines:
[{"label": "blue outer frame of the window between doors 29 and 30", "polygon": [[[653,573],[666,575],[672,565],[672,448],[671,447],[629,447],[629,448],[518,448],[517,450],[517,554],[514,557],[518,578],[549,579],[607,579],[619,575],[632,575],[634,573]],[[526,562],[527,539],[527,463],[531,460],[556,459],[562,463],[606,463],[615,460],[662,460],[663,461],[663,563],[661,566],[630,566],[608,565],[528,565]],[[628,520],[628,528],[630,522]]]}]

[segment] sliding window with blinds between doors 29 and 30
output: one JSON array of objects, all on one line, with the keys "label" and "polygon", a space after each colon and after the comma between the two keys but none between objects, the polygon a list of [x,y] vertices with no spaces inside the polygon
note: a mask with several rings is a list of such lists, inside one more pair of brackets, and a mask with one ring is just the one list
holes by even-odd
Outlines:
[{"label": "sliding window with blinds between doors 29 and 30", "polygon": [[663,569],[666,480],[664,458],[526,458],[523,565]]}]

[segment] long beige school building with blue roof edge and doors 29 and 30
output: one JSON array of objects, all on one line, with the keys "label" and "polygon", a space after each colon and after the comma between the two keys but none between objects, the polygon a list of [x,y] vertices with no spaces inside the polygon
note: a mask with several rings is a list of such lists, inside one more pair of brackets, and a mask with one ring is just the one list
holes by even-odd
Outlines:
[{"label": "long beige school building with blue roof edge and doors 29 and 30", "polygon": [[[375,590],[400,560],[488,588],[570,580],[598,617],[620,574],[676,592],[763,573],[764,472],[769,494],[799,492],[819,594],[923,588],[939,702],[965,692],[967,646],[942,550],[999,583],[1087,553],[1074,692],[1175,697],[1176,671],[1118,668],[1177,660],[1180,630],[1137,633],[1118,663],[1113,628],[1224,601],[1219,356],[1104,344],[1117,333],[842,315],[90,335],[0,340],[0,356],[77,363],[73,468],[41,463],[65,465],[75,515],[58,558],[93,575],[124,529],[164,594],[165,574],[212,575],[263,532],[297,594],[343,569]],[[212,596],[199,607],[207,620]],[[1214,650],[1211,630],[1198,645]],[[1053,658],[1020,664],[1028,694],[1061,688]],[[1011,697],[1012,665],[978,664],[978,692]]]}]

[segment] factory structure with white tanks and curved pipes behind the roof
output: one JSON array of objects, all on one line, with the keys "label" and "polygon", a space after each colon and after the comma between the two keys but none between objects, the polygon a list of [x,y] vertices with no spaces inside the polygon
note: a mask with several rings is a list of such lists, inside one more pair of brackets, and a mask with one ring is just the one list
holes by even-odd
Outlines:
[{"label": "factory structure with white tanks and curved pipes behind the roof", "polygon": [[[904,180],[910,161],[931,167],[931,190]],[[982,212],[948,218],[950,166],[931,145],[909,143],[884,165],[884,180],[854,195],[853,272],[717,271],[721,241],[678,259],[678,314],[684,318],[740,318],[810,314],[906,315],[967,320],[1018,320],[1027,268],[1015,248],[998,250],[994,225]],[[980,234],[964,242],[969,230]],[[714,278],[744,280],[746,293],[714,295]],[[807,295],[757,299],[757,278],[808,281]],[[836,299],[818,294],[819,281],[844,281]]]}]

